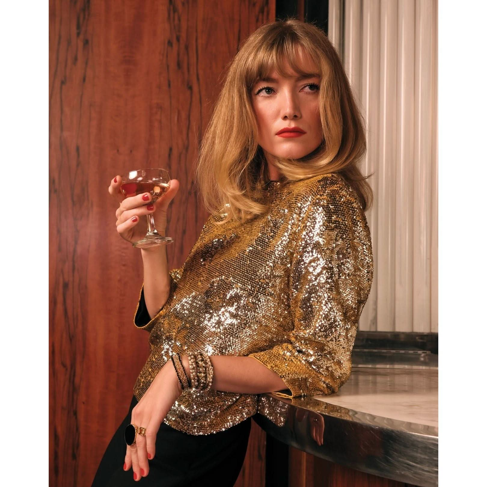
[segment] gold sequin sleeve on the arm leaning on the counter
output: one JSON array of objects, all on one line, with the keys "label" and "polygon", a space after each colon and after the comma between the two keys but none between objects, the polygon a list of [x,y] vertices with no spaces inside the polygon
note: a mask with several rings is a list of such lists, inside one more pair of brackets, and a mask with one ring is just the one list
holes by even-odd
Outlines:
[{"label": "gold sequin sleeve on the arm leaning on the counter", "polygon": [[331,394],[347,381],[372,278],[370,230],[355,192],[318,191],[303,213],[292,257],[289,341],[249,355],[287,385],[290,394],[276,395]]}]

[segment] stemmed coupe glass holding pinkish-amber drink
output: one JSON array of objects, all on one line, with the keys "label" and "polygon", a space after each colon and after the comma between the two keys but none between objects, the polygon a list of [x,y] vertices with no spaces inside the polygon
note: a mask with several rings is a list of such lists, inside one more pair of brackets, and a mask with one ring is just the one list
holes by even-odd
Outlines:
[{"label": "stemmed coupe glass holding pinkish-amber drink", "polygon": [[[136,196],[137,194],[150,193],[152,200],[144,205],[153,205],[170,187],[169,172],[166,169],[137,169],[122,175],[122,185],[120,189],[125,198]],[[132,245],[137,248],[148,248],[156,245],[166,245],[172,243],[171,237],[161,235],[154,224],[154,215],[147,215],[147,234],[146,236]]]}]

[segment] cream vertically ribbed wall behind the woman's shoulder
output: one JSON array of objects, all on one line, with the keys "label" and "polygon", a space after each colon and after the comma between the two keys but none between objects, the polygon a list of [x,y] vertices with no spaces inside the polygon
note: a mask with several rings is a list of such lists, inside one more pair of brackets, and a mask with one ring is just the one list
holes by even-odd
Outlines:
[{"label": "cream vertically ribbed wall behind the woman's shoulder", "polygon": [[437,0],[330,0],[367,121],[374,284],[360,330],[438,331]]}]

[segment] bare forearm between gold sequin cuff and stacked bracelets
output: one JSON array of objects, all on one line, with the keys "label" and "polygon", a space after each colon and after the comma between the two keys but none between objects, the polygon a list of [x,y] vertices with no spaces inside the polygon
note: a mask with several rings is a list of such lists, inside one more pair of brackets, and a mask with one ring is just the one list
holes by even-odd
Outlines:
[{"label": "bare forearm between gold sequin cuff and stacked bracelets", "polygon": [[[187,355],[182,355],[181,359],[189,377]],[[211,389],[247,394],[271,393],[287,389],[279,375],[254,357],[212,355],[210,361],[213,366]]]}]

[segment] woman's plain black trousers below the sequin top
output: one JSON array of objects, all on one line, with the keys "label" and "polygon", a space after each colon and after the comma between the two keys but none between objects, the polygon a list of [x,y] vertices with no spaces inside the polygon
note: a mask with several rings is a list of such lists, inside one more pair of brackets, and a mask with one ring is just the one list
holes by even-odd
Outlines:
[{"label": "woman's plain black trousers below the sequin top", "polygon": [[131,422],[129,412],[112,437],[94,476],[92,487],[233,487],[247,451],[251,418],[228,430],[207,435],[192,435],[162,423],[156,436],[155,457],[149,460],[149,474],[133,480],[133,470],[123,464],[127,444],[125,427]]}]

